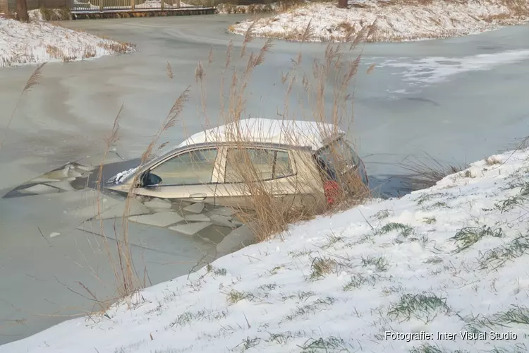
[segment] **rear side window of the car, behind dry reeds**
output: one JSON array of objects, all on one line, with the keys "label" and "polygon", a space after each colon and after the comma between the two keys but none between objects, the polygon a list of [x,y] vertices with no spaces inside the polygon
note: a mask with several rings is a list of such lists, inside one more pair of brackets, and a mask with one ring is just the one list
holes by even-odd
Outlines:
[{"label": "rear side window of the car, behind dry reeds", "polygon": [[270,180],[292,173],[288,152],[260,148],[229,148],[226,155],[226,183]]}]

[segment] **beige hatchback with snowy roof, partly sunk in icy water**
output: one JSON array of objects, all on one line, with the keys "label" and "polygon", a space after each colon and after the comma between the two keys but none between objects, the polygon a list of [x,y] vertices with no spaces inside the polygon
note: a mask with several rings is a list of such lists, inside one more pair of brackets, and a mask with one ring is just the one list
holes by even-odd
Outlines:
[{"label": "beige hatchback with snowy roof, partly sunk in icy water", "polygon": [[[337,157],[338,156],[338,157]],[[243,119],[196,133],[149,162],[116,174],[105,188],[150,198],[252,207],[253,184],[296,204],[334,202],[344,176],[368,186],[363,161],[331,124]],[[133,185],[134,184],[134,185]]]}]

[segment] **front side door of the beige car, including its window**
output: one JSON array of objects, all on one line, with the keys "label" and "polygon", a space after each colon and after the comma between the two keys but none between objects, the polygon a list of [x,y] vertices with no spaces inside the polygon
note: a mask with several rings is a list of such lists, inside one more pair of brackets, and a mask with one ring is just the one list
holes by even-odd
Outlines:
[{"label": "front side door of the beige car, including its window", "polygon": [[214,205],[218,162],[217,148],[182,151],[150,168],[150,174],[162,179],[160,184],[137,188],[133,192],[142,196]]}]

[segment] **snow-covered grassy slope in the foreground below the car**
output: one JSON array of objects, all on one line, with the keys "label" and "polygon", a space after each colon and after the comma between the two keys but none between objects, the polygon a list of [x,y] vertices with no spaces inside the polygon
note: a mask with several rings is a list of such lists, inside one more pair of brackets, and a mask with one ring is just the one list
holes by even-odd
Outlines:
[{"label": "snow-covered grassy slope in the foreground below the car", "polygon": [[527,352],[529,150],[292,226],[0,353]]}]

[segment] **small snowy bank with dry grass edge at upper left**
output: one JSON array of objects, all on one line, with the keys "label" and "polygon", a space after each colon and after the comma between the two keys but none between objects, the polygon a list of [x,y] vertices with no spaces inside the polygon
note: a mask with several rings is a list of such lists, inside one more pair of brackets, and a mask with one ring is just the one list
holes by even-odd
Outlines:
[{"label": "small snowy bank with dry grass edge at upper left", "polygon": [[0,67],[76,61],[132,52],[132,44],[107,40],[51,23],[0,18]]}]

